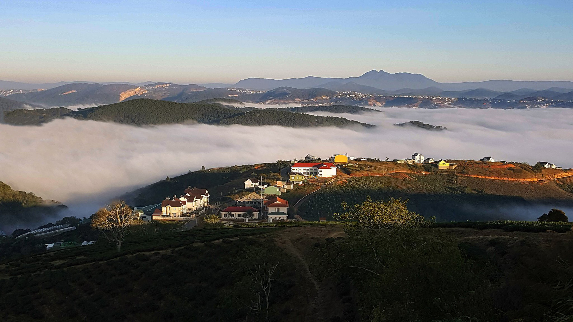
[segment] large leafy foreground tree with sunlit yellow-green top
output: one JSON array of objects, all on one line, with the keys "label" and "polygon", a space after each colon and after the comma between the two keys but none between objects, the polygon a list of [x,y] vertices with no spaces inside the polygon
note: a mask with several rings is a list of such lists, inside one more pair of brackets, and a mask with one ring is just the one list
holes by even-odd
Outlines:
[{"label": "large leafy foreground tree with sunlit yellow-green top", "polygon": [[406,201],[366,201],[337,215],[347,238],[319,247],[324,269],[357,288],[364,321],[492,320],[486,274]]}]

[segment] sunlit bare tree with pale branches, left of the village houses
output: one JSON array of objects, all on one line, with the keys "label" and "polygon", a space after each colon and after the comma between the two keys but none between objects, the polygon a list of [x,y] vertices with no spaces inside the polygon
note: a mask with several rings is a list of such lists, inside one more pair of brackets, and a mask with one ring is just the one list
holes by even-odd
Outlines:
[{"label": "sunlit bare tree with pale branches, left of the village houses", "polygon": [[137,219],[131,208],[124,201],[114,202],[97,211],[92,218],[92,227],[101,230],[104,237],[117,245],[117,252],[121,250],[121,242],[129,233],[129,226]]}]

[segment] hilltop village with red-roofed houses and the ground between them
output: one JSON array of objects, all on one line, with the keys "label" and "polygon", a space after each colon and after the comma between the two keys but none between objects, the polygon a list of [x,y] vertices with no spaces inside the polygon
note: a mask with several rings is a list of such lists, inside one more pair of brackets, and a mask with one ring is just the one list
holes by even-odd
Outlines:
[{"label": "hilltop village with red-roofed houses and the ground between them", "polygon": [[[320,187],[347,179],[349,174],[353,176],[353,172],[358,168],[372,167],[368,164],[417,165],[423,169],[420,173],[426,174],[448,170],[456,171],[461,163],[464,164],[464,167],[485,169],[515,168],[513,163],[497,161],[492,156],[484,156],[480,160],[435,160],[426,158],[420,153],[414,153],[410,158],[380,160],[378,158],[349,156],[348,154],[333,154],[325,159],[307,155],[304,158],[292,160],[290,166],[278,169],[280,170],[280,178],[266,178],[265,175],[260,175],[244,180],[241,187],[236,187],[233,190],[233,197],[230,200],[221,201],[219,198],[215,202],[210,202],[210,194],[207,189],[189,186],[181,194],[166,197],[154,205],[134,207],[134,213],[142,221],[191,221],[206,214],[217,214],[219,222],[223,223],[301,220],[292,211],[295,205],[289,203],[289,198],[283,197],[284,194],[289,195],[290,191],[297,187],[307,186],[305,191],[308,192],[307,195],[310,195]],[[562,170],[561,167],[549,162],[538,162],[533,168]],[[406,171],[396,170],[388,173],[391,172]],[[387,173],[384,172],[384,174]],[[376,172],[367,175],[381,174]],[[364,174],[360,176],[364,176]],[[469,176],[486,177],[478,174]],[[298,203],[306,195],[300,197],[303,198],[297,198],[294,201]],[[325,218],[321,219],[325,220]]]}]

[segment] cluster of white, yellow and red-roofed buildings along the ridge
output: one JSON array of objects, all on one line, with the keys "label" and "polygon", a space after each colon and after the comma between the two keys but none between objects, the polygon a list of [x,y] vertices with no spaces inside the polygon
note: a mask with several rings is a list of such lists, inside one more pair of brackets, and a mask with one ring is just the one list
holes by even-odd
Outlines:
[{"label": "cluster of white, yellow and red-roofed buildings along the ridge", "polygon": [[[147,207],[135,207],[134,212],[143,220],[151,219],[194,219],[196,215],[206,214],[207,210],[217,211],[222,220],[242,219],[266,219],[267,221],[288,220],[289,202],[280,198],[282,193],[292,190],[296,185],[308,182],[319,185],[327,185],[336,180],[337,170],[340,167],[356,166],[354,161],[380,161],[377,158],[356,158],[348,154],[333,154],[322,160],[313,155],[307,155],[302,159],[295,159],[291,166],[282,169],[281,176],[284,179],[272,182],[264,182],[261,178],[248,178],[244,181],[244,189],[248,194],[234,199],[233,204],[226,206],[210,206],[209,191],[197,187],[187,187],[180,197],[174,195],[166,198],[162,203]],[[492,156],[484,156],[481,162],[498,162]],[[411,158],[394,159],[386,162],[402,164],[422,164],[433,166],[438,170],[454,169],[456,163],[450,163],[445,159],[434,160],[425,158],[420,153],[414,153]],[[499,161],[505,163],[505,161]],[[553,163],[537,162],[536,166],[543,168],[560,169]],[[249,191],[251,191],[249,193]]]}]

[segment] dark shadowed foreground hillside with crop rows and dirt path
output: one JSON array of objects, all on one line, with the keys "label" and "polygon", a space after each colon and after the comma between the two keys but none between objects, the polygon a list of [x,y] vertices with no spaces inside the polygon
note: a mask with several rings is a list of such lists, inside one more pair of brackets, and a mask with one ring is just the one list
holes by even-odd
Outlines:
[{"label": "dark shadowed foreground hillside with crop rows and dirt path", "polygon": [[[390,322],[558,322],[573,315],[559,305],[572,300],[571,234],[393,229],[368,237],[383,256],[376,263],[360,239],[346,234],[348,227],[136,228],[121,252],[100,239],[5,260],[0,316],[14,322],[372,321],[380,308]],[[366,256],[357,257],[360,252]],[[368,264],[370,272],[341,268],[339,261]],[[252,278],[263,275],[250,274],[261,265],[276,265],[268,313]]]}]

